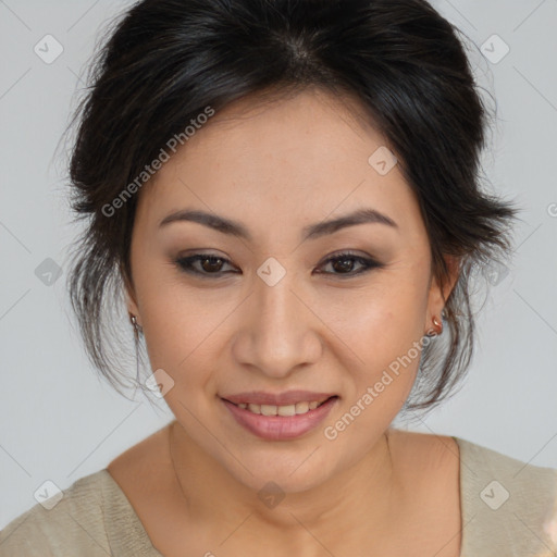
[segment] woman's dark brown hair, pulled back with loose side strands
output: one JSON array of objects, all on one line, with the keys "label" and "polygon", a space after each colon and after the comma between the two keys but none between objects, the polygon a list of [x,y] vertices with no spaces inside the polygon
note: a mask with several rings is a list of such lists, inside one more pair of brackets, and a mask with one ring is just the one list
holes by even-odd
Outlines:
[{"label": "woman's dark brown hair, pulled back with loose side strands", "polygon": [[459,33],[424,0],[145,0],[114,21],[72,121],[71,206],[87,221],[69,289],[88,356],[119,392],[131,380],[119,363],[119,325],[132,329],[111,309],[121,311],[123,286],[133,284],[140,191],[113,215],[107,205],[207,107],[218,113],[248,95],[319,87],[357,98],[387,138],[419,201],[441,284],[443,256],[460,258],[446,331],[424,347],[405,407],[447,398],[473,352],[470,287],[510,255],[517,212],[481,189],[488,110]]}]

